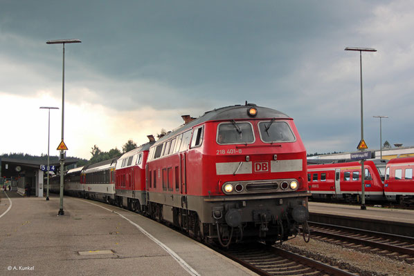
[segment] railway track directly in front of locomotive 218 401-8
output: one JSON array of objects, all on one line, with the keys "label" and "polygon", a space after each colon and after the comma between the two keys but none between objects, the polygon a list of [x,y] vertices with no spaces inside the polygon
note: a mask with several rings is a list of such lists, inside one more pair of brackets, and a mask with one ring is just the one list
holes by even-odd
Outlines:
[{"label": "railway track directly in front of locomotive 218 401-8", "polygon": [[260,243],[241,244],[219,253],[258,275],[355,275],[313,259]]}]

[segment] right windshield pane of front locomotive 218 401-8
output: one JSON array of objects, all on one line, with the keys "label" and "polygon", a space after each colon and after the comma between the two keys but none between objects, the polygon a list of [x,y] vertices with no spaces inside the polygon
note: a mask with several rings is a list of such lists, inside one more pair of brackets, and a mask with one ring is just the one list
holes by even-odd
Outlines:
[{"label": "right windshield pane of front locomotive 218 401-8", "polygon": [[259,130],[265,143],[295,141],[294,133],[285,121],[261,121]]}]

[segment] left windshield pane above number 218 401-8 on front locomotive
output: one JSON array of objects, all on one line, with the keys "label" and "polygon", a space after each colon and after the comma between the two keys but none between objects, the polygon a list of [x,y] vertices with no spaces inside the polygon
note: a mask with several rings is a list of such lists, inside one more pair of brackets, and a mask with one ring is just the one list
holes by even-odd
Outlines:
[{"label": "left windshield pane above number 218 401-8 on front locomotive", "polygon": [[219,124],[217,131],[218,144],[249,144],[255,141],[253,127],[247,122]]}]

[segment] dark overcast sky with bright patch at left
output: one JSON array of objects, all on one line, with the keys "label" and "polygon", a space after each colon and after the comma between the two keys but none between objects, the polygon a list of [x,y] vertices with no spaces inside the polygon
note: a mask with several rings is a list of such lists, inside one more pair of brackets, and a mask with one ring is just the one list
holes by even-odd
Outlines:
[{"label": "dark overcast sky with bright patch at left", "polygon": [[414,146],[414,1],[0,0],[0,154],[122,150],[181,115],[256,103],[294,118],[308,153],[361,138]]}]

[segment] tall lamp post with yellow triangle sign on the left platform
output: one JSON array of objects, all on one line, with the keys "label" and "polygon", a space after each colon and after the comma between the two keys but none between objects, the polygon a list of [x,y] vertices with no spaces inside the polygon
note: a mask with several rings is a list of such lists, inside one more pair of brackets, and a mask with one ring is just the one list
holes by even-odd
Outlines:
[{"label": "tall lamp post with yellow triangle sign on the left platform", "polygon": [[[57,39],[49,40],[46,44],[62,44],[63,45],[63,64],[62,64],[62,142],[64,130],[64,44],[80,43],[79,39]],[[57,215],[64,215],[63,210],[63,172],[64,172],[64,150],[60,150],[60,209]]]}]

